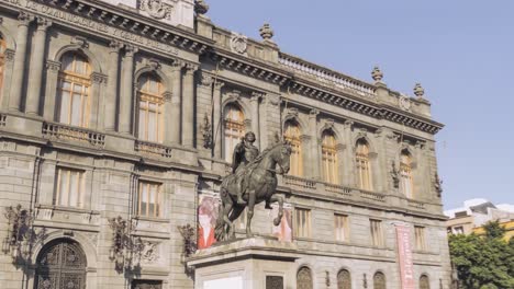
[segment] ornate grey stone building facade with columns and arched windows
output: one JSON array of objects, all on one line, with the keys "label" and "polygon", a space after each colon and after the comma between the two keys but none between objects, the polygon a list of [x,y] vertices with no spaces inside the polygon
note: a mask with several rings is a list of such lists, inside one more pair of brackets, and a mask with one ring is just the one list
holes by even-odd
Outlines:
[{"label": "ornate grey stone building facade with columns and arched windows", "polygon": [[[423,88],[323,68],[280,51],[269,25],[250,39],[208,9],[0,3],[1,287],[193,288],[178,228],[197,231],[252,130],[261,150],[293,146],[279,178],[292,216],[279,235],[300,248],[287,288],[401,288],[398,226],[415,287],[449,288],[443,125]],[[257,234],[276,234],[269,216],[258,208]]]}]

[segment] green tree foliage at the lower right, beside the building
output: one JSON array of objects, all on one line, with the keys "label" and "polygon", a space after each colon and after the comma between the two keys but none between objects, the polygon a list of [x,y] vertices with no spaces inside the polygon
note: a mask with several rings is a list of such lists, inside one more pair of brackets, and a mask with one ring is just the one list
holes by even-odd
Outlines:
[{"label": "green tree foliage at the lower right, beside the building", "polygon": [[461,288],[514,288],[514,239],[502,240],[505,230],[498,221],[484,226],[485,235],[449,236],[451,262]]}]

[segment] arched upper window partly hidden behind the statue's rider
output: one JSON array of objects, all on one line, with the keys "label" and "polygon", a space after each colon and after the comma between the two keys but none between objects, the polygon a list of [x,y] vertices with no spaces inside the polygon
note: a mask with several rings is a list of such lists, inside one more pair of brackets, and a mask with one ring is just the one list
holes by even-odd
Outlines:
[{"label": "arched upper window partly hidden behind the statue's rider", "polygon": [[245,115],[235,104],[228,104],[224,112],[225,119],[225,161],[232,163],[232,153],[241,139],[245,136]]}]

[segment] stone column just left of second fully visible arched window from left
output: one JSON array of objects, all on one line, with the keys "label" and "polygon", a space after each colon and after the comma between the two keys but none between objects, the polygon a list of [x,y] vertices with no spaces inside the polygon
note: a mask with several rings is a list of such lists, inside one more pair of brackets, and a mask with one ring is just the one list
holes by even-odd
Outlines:
[{"label": "stone column just left of second fully visible arched window from left", "polygon": [[132,132],[132,102],[134,97],[134,55],[137,48],[125,46],[125,59],[123,61],[123,94],[120,96],[120,129],[124,135]]}]

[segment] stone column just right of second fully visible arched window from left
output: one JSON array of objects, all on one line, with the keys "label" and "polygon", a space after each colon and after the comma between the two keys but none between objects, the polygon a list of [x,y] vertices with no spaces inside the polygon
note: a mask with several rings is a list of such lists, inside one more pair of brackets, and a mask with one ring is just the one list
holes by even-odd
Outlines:
[{"label": "stone column just right of second fully visible arched window from left", "polygon": [[[175,61],[171,71],[171,108],[169,111],[170,123],[169,135],[165,136],[165,143],[180,144],[180,111],[181,111],[181,83],[182,83],[182,63]],[[168,112],[165,112],[168,114]],[[168,130],[166,130],[168,131]]]}]

